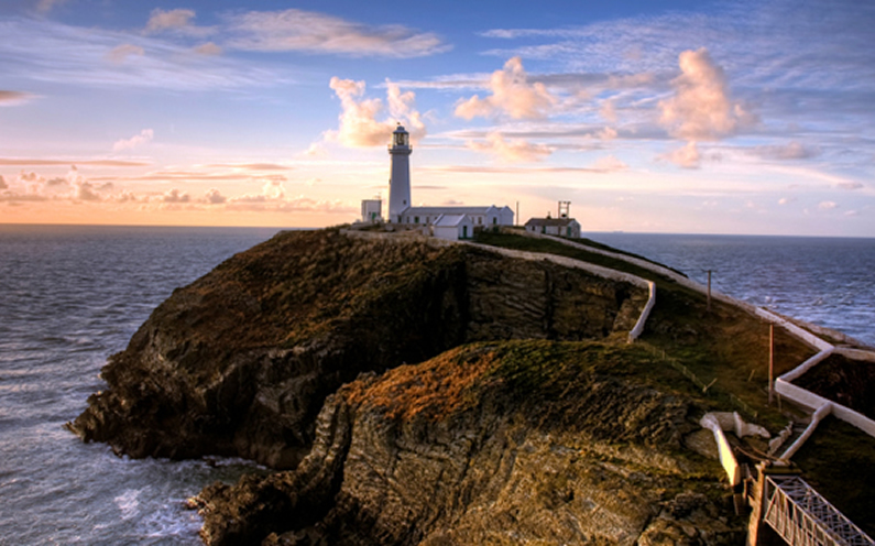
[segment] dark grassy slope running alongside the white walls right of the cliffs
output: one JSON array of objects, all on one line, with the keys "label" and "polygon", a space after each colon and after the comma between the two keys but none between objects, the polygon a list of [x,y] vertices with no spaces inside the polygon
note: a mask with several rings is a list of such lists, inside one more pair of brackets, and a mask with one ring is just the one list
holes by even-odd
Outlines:
[{"label": "dark grassy slope running alongside the white walls right of the cliffs", "polygon": [[[768,326],[747,313],[720,303],[706,310],[704,297],[655,273],[621,260],[576,250],[559,242],[512,234],[483,233],[481,243],[496,247],[548,252],[598,263],[654,281],[656,305],[642,336],[642,345],[664,351],[691,370],[702,382],[717,379],[706,403],[715,410],[734,410],[729,400],[734,394],[757,412],[757,422],[776,433],[787,417],[768,406],[765,389],[768,363]],[[775,376],[788,371],[814,351],[781,329],[775,330]],[[674,382],[674,370],[657,359],[652,373]],[[688,379],[677,389],[701,391]],[[787,407],[785,406],[785,411]],[[875,534],[875,439],[838,419],[825,426],[795,457],[803,478],[830,502]]]}]

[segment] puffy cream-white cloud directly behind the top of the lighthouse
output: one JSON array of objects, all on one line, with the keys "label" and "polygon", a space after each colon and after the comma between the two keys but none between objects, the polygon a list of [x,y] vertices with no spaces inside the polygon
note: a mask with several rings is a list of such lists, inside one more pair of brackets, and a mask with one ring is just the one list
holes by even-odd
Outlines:
[{"label": "puffy cream-white cloud directly behind the top of the lighthouse", "polygon": [[396,85],[389,83],[387,101],[392,118],[378,121],[378,116],[383,111],[383,101],[363,98],[364,81],[332,77],[329,86],[340,99],[342,111],[339,117],[340,127],[337,131],[326,133],[328,140],[356,148],[385,145],[396,122],[405,124],[414,142],[426,135],[425,123],[414,107],[413,91],[402,94]]}]

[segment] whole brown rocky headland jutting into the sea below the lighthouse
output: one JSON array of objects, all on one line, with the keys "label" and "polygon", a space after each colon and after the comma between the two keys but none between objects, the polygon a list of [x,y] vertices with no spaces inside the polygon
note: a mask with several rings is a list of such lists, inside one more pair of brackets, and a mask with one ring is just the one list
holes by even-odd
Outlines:
[{"label": "whole brown rocky headland jutting into the sea below the lighthouse", "polygon": [[[622,279],[284,232],[175,291],[68,426],[131,457],[276,469],[192,500],[212,545],[742,544],[698,419],[729,403],[724,385],[763,397],[745,365],[767,330],[657,284],[646,341],[628,345],[648,293]],[[811,354],[776,345],[779,370]],[[693,370],[714,376],[707,395]]]}]

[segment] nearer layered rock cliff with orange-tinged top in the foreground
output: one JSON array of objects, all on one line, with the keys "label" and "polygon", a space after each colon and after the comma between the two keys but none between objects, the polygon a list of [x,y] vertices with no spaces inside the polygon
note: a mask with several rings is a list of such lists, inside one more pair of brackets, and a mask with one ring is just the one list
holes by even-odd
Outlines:
[{"label": "nearer layered rock cliff with orange-tinged top in the foreground", "polygon": [[[480,343],[331,395],[295,471],[216,484],[207,544],[740,544],[694,403],[611,343]],[[641,373],[639,373],[641,372]],[[668,372],[670,375],[670,372]],[[680,378],[664,378],[664,381]]]}]

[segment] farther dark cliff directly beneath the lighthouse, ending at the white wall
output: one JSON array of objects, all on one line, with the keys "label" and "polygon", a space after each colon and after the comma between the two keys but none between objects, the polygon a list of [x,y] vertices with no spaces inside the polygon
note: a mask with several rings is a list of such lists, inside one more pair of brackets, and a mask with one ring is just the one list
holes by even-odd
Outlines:
[{"label": "farther dark cliff directly beneath the lighthouse, ending at the white wall", "polygon": [[468,341],[624,334],[645,299],[624,283],[473,248],[281,233],[175,291],[69,427],[132,457],[294,468],[325,400],[360,372]]}]

